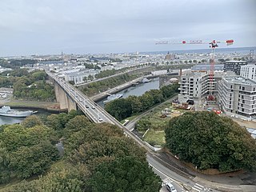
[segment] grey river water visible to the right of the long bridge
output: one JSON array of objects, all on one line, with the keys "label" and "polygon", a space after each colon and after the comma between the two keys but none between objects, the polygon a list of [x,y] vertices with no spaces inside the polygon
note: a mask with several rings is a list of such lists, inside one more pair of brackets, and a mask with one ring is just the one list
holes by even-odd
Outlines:
[{"label": "grey river water visible to the right of the long bridge", "polygon": [[[154,79],[151,79],[150,82],[140,83],[136,86],[130,86],[129,88],[122,90],[117,94],[123,94],[122,98],[128,98],[130,95],[140,96],[144,94],[147,90],[158,90],[158,89],[159,89],[159,78],[154,78]],[[97,102],[98,105],[104,107],[103,101],[105,100],[106,98],[103,99],[102,101]]]}]

